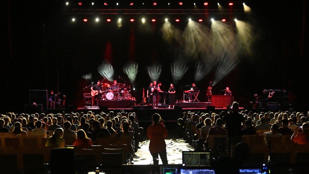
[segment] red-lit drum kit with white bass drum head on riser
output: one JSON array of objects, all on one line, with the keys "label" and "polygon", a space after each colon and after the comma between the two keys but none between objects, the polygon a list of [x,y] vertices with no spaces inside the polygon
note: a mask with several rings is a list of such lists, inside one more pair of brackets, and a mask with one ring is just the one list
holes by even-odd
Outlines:
[{"label": "red-lit drum kit with white bass drum head on riser", "polygon": [[125,84],[118,83],[118,86],[111,87],[107,83],[102,84],[101,100],[131,100],[131,86],[125,86]]}]

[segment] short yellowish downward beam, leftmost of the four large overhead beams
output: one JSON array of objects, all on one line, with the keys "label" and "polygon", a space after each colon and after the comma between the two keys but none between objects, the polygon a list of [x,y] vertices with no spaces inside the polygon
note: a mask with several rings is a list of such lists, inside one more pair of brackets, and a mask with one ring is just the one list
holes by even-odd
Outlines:
[{"label": "short yellowish downward beam, leftmost of the four large overhead beams", "polygon": [[163,41],[169,44],[174,42],[180,43],[182,40],[181,30],[173,26],[170,22],[165,22],[161,27],[161,32],[163,33]]}]

